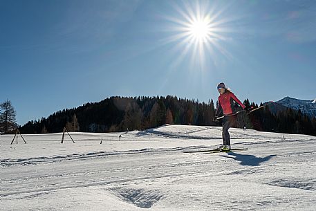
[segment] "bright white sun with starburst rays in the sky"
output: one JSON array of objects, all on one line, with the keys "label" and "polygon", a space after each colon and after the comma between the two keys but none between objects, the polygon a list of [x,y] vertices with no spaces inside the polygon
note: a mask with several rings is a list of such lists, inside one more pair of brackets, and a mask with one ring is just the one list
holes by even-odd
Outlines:
[{"label": "bright white sun with starburst rays in the sky", "polygon": [[[225,59],[233,59],[227,51],[227,42],[232,42],[232,23],[227,7],[216,6],[208,1],[180,1],[173,3],[172,15],[164,18],[167,23],[167,36],[164,44],[174,44],[171,49],[176,52],[172,66],[179,65],[189,58],[192,69],[201,70],[217,66]],[[188,57],[189,56],[189,57]]]}]

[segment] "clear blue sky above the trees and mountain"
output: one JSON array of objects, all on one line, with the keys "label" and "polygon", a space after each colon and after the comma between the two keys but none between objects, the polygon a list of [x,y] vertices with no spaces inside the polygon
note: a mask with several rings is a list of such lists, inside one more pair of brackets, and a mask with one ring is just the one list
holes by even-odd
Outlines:
[{"label": "clear blue sky above the trees and mountain", "polygon": [[112,95],[216,101],[219,82],[312,100],[316,1],[0,0],[0,73],[20,125]]}]

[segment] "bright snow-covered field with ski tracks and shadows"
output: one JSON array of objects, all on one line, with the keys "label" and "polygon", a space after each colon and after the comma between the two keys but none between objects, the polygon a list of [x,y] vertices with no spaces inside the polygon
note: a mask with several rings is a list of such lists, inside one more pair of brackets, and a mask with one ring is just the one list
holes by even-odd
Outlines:
[{"label": "bright snow-covered field with ski tracks and shadows", "polygon": [[0,136],[0,210],[316,210],[316,137],[230,134],[248,150],[183,153],[219,146],[221,127]]}]

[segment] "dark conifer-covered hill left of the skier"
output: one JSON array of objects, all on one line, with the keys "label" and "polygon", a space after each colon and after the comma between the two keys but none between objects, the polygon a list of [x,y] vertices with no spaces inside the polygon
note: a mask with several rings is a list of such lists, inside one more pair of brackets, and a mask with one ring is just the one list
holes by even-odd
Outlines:
[{"label": "dark conifer-covered hill left of the skier", "polygon": [[216,125],[214,102],[167,97],[111,97],[75,109],[57,111],[48,118],[30,121],[20,128],[24,134],[68,131],[115,132],[142,130],[165,124]]}]

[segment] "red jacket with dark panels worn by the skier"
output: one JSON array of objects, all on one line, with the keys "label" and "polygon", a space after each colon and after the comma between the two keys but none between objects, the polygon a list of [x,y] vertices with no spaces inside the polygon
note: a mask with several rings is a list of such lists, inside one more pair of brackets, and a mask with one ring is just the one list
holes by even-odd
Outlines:
[{"label": "red jacket with dark panels worn by the skier", "polygon": [[230,91],[226,91],[223,95],[219,95],[219,108],[216,111],[216,116],[223,111],[224,116],[230,115],[233,112],[234,104],[233,101],[237,102],[243,109],[245,105]]}]

